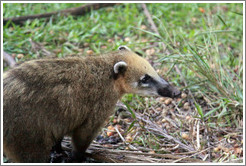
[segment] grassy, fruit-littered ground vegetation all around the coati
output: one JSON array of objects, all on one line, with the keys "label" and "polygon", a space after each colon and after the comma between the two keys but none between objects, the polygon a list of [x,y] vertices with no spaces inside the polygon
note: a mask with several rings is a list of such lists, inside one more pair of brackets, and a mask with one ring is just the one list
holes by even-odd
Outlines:
[{"label": "grassy, fruit-littered ground vegetation all around the coati", "polygon": [[[81,5],[9,3],[3,6],[3,16]],[[18,62],[45,57],[47,52],[58,57],[85,56],[127,45],[183,94],[172,101],[124,96],[122,102],[131,116],[123,121],[119,115],[112,116],[102,135],[122,137],[124,144],[117,149],[130,153],[135,147],[151,153],[152,158],[147,158],[153,162],[199,162],[187,158],[242,162],[243,4],[164,3],[147,4],[147,8],[159,34],[152,31],[140,4],[119,4],[84,16],[57,15],[23,25],[8,22],[3,27],[3,48]],[[185,146],[196,152],[189,154]],[[169,153],[183,153],[186,158],[164,160],[156,155]]]}]

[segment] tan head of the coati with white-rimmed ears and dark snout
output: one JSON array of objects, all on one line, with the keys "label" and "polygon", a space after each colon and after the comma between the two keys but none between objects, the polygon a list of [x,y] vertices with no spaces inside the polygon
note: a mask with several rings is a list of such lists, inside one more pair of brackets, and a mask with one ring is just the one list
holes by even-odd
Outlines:
[{"label": "tan head of the coati with white-rimmed ears and dark snout", "polygon": [[180,91],[162,79],[144,58],[126,46],[118,49],[120,60],[114,64],[114,78],[120,91],[172,98],[180,95]]}]

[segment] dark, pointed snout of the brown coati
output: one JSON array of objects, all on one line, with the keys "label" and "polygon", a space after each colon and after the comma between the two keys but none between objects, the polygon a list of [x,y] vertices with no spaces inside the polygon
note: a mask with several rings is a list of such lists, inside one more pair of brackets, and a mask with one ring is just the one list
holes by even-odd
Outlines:
[{"label": "dark, pointed snout of the brown coati", "polygon": [[171,97],[171,98],[179,97],[181,95],[180,90],[170,85],[168,82],[166,82],[163,79],[161,79],[159,85],[157,85],[157,93],[160,96]]}]

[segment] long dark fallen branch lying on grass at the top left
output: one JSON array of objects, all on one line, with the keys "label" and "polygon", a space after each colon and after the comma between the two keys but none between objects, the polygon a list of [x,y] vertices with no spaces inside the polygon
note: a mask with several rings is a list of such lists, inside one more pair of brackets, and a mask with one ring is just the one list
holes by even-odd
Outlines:
[{"label": "long dark fallen branch lying on grass at the top left", "polygon": [[74,16],[84,15],[85,13],[90,11],[91,9],[96,10],[96,9],[100,9],[102,7],[113,6],[116,4],[117,3],[91,3],[91,4],[86,4],[86,5],[83,5],[80,7],[69,8],[69,9],[50,12],[50,13],[12,17],[12,18],[3,18],[3,24],[6,24],[8,21],[12,21],[15,24],[21,24],[23,21],[26,21],[26,20],[33,20],[36,18],[49,18],[49,17],[56,15],[56,14],[74,15]]}]

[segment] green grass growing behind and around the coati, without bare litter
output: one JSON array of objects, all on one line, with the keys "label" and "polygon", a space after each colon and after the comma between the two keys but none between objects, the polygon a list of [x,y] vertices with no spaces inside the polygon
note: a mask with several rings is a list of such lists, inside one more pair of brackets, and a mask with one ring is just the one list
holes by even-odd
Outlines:
[{"label": "green grass growing behind and around the coati, without bare litter", "polygon": [[[38,14],[80,5],[4,4],[3,16]],[[91,11],[84,16],[53,16],[48,21],[27,21],[23,26],[8,23],[3,28],[3,48],[12,55],[23,54],[23,58],[15,56],[15,59],[25,61],[39,57],[39,51],[32,48],[29,39],[41,43],[58,57],[72,54],[85,56],[88,50],[94,53],[109,52],[120,45],[127,45],[143,53],[170,82],[191,92],[194,109],[190,115],[201,119],[208,130],[217,132],[227,127],[241,129],[243,5],[180,3],[147,4],[147,7],[160,35],[151,32],[140,4],[121,4]],[[167,46],[169,55],[165,53],[162,42]],[[155,46],[155,43],[158,45]],[[149,55],[151,47],[154,53]],[[174,65],[179,67],[181,75]],[[6,66],[4,70],[7,69]],[[146,98],[132,94],[124,96],[123,102],[134,120],[134,111],[143,112],[160,106],[156,98],[146,102]],[[177,105],[182,107],[182,101]],[[130,124],[128,132],[135,128],[135,123],[138,122]],[[185,122],[175,123],[181,128],[170,134],[185,142],[181,138]],[[160,151],[158,140],[161,139],[148,131],[136,137],[134,143]]]}]

